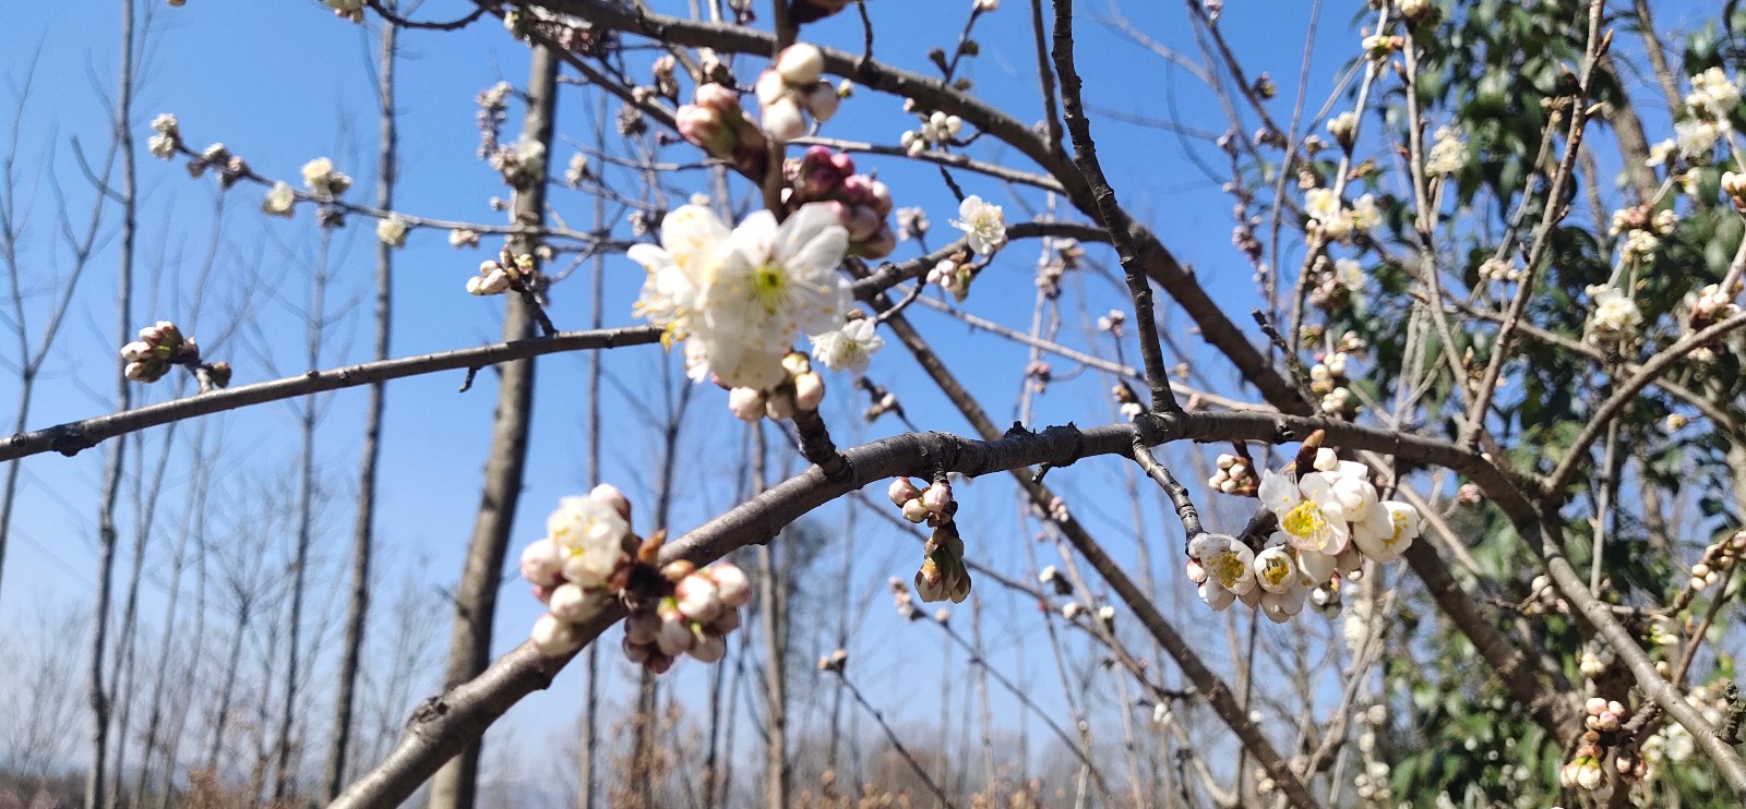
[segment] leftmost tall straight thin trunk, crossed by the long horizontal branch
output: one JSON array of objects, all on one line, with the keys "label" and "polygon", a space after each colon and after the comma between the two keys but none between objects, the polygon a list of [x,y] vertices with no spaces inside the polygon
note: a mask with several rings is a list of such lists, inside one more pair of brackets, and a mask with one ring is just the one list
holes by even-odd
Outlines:
[{"label": "leftmost tall straight thin trunk, crossed by the long horizontal branch", "polygon": [[[115,298],[119,338],[133,337],[133,242],[138,230],[134,209],[134,153],[133,153],[133,0],[122,0],[120,12],[120,80],[115,89],[115,141],[120,148],[120,242],[115,267]],[[115,375],[115,410],[133,404],[133,391],[120,368]],[[86,772],[86,809],[103,806],[107,776],[110,697],[103,692],[103,649],[108,643],[110,579],[115,574],[115,495],[120,493],[120,469],[126,441],[115,441],[103,467],[103,493],[98,511],[98,575],[96,608],[91,612],[91,668],[86,673],[86,699],[91,704],[91,769]]]}]

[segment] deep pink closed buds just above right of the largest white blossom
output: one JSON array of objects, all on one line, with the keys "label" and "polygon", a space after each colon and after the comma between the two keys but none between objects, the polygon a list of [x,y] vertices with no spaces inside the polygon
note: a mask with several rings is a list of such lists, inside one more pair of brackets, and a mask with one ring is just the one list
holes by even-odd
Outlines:
[{"label": "deep pink closed buds just above right of the largest white blossom", "polygon": [[856,162],[843,152],[812,146],[782,167],[787,180],[784,202],[791,209],[828,202],[849,230],[849,255],[885,258],[897,248],[890,223],[890,188],[868,174],[856,174]]}]

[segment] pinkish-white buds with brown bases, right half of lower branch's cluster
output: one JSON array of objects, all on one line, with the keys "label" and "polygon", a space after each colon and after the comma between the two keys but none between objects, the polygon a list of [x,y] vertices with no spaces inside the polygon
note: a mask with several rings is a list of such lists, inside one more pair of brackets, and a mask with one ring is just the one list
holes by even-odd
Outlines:
[{"label": "pinkish-white buds with brown bases, right half of lower branch's cluster", "polygon": [[693,570],[686,561],[662,568],[672,595],[643,598],[625,617],[625,657],[650,673],[672,668],[681,654],[716,663],[728,654],[728,633],[740,628],[740,607],[753,598],[740,568],[719,563]]}]

